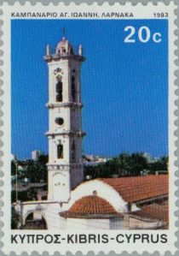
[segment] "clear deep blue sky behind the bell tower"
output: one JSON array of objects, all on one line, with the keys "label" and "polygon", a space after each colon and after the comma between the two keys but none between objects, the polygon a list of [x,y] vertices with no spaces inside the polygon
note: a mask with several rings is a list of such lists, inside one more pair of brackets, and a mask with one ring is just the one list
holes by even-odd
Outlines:
[{"label": "clear deep blue sky behind the bell tower", "polygon": [[[124,27],[150,28],[159,44],[124,43]],[[62,27],[72,45],[82,44],[83,128],[86,154],[168,154],[168,29],[157,20],[14,20],[11,23],[12,153],[31,158],[48,152],[47,44],[55,50]]]}]

